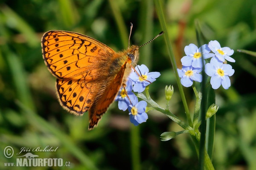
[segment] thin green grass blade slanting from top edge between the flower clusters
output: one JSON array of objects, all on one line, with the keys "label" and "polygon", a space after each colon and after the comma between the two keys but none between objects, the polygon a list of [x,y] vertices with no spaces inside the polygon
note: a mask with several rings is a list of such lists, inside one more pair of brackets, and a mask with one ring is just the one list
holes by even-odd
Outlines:
[{"label": "thin green grass blade slanting from top edge between the flower clusters", "polygon": [[162,8],[163,4],[162,4],[161,0],[154,0],[154,2],[155,2],[155,5],[156,5],[157,15],[158,15],[158,18],[159,18],[159,21],[160,21],[160,25],[161,25],[161,27],[163,28],[163,31],[164,31],[163,36],[164,36],[164,39],[165,39],[165,42],[166,42],[166,47],[167,47],[167,51],[169,53],[170,60],[172,62],[172,68],[175,72],[175,77],[177,79],[177,85],[178,85],[178,88],[179,88],[179,91],[180,91],[180,96],[181,96],[181,99],[182,99],[182,102],[183,102],[183,106],[184,106],[184,110],[185,110],[185,113],[186,113],[187,121],[189,122],[189,126],[192,127],[192,120],[191,120],[191,116],[189,114],[189,107],[186,103],[186,97],[185,97],[185,94],[184,94],[184,91],[183,91],[183,87],[180,83],[180,77],[179,77],[178,72],[177,72],[177,64],[175,62],[175,57],[174,57],[174,54],[173,54],[172,45],[171,45],[171,42],[169,40],[169,35],[168,35],[167,27],[166,27],[164,14],[163,14],[163,8]]}]

